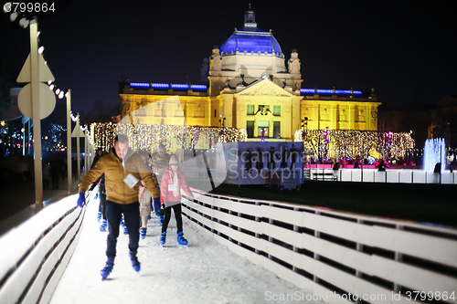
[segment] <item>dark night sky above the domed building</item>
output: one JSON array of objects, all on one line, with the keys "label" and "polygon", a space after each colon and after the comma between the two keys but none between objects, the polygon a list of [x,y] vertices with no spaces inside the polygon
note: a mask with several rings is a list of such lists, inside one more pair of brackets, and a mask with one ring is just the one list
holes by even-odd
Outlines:
[{"label": "dark night sky above the domed building", "polygon": [[[4,1],[5,2],[5,1]],[[86,1],[38,20],[56,84],[74,111],[117,104],[118,82],[199,83],[203,58],[242,28],[252,4],[286,59],[302,62],[302,88],[371,89],[391,103],[457,94],[455,1]],[[388,5],[389,4],[389,5]],[[27,29],[0,13],[0,55],[18,74]]]}]

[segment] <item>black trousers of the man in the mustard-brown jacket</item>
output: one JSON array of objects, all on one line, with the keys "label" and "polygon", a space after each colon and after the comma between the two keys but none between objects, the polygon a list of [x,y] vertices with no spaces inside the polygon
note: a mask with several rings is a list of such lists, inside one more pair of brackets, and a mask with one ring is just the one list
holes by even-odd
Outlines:
[{"label": "black trousers of the man in the mustard-brown jacket", "polygon": [[116,244],[122,215],[129,233],[129,249],[133,254],[136,254],[138,250],[138,242],[140,241],[140,203],[117,204],[112,201],[106,201],[106,217],[108,219],[106,256],[111,259],[116,257]]}]

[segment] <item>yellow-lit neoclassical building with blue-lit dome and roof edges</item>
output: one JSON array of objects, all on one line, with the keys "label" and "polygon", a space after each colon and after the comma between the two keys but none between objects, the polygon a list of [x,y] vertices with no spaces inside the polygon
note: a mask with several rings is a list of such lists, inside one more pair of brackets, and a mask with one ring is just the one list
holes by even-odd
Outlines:
[{"label": "yellow-lit neoclassical building with blue-lit dome and roof edges", "polygon": [[[249,141],[263,135],[272,141],[293,141],[307,121],[308,130],[377,131],[375,94],[353,89],[301,89],[300,59],[295,49],[286,59],[271,31],[257,27],[255,12],[245,12],[244,28],[214,47],[208,84],[122,83],[122,117],[134,112],[135,122],[154,123],[141,108],[171,96],[179,98],[155,116],[187,125],[245,129]],[[165,112],[166,111],[166,112]]]}]

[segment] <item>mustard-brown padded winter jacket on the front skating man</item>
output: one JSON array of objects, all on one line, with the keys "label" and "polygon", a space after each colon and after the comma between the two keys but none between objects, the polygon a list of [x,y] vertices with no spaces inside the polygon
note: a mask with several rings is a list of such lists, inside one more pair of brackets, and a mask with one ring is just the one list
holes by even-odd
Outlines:
[{"label": "mustard-brown padded winter jacket on the front skating man", "polygon": [[95,182],[102,173],[105,173],[106,199],[118,204],[132,204],[138,202],[138,190],[140,183],[136,183],[130,188],[123,179],[132,174],[137,180],[140,177],[146,183],[146,188],[153,194],[153,197],[159,197],[159,189],[155,186],[151,175],[151,168],[147,166],[140,154],[129,150],[125,157],[125,168],[121,160],[117,157],[116,152],[112,149],[106,155],[101,156],[95,166],[86,173],[80,184],[80,193],[86,192],[90,184]]}]

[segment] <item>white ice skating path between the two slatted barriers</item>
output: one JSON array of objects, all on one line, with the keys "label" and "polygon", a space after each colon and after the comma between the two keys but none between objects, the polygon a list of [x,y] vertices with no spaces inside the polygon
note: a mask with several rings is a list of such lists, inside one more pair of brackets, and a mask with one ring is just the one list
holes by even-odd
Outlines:
[{"label": "white ice skating path between the two slatted barriers", "polygon": [[[76,200],[75,200],[76,204]],[[128,256],[128,236],[118,238],[117,257],[110,277],[101,281],[105,265],[106,232],[96,220],[98,201],[91,200],[80,241],[69,261],[51,304],[69,303],[298,303],[306,290],[277,278],[219,245],[207,232],[184,217],[188,247],[176,241],[174,214],[168,225],[166,245],[158,245],[158,217],[148,223],[140,239],[141,270],[133,270]],[[289,297],[289,300],[284,300]],[[275,300],[276,299],[276,300]],[[315,302],[315,301],[313,301]]]}]

